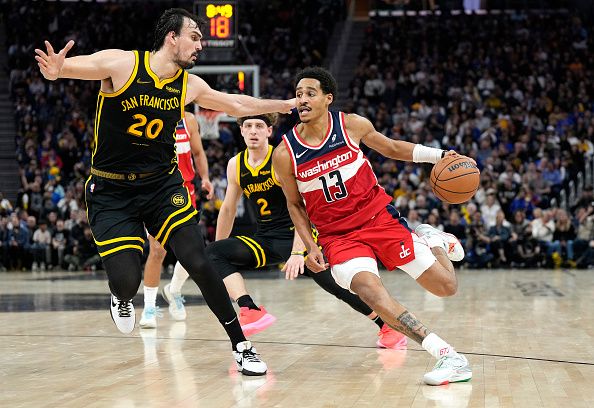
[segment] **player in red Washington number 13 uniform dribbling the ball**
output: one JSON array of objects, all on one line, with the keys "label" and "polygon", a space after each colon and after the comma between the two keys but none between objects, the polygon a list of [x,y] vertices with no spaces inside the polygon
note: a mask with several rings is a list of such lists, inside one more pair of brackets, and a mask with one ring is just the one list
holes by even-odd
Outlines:
[{"label": "player in red Washington number 13 uniform dribbling the ball", "polygon": [[[425,374],[425,383],[470,380],[466,357],[389,295],[376,261],[389,270],[403,270],[437,296],[451,296],[457,290],[451,260],[461,260],[464,249],[456,237],[427,224],[415,232],[408,229],[390,205],[392,198],[378,185],[359,144],[403,161],[436,163],[457,153],[392,140],[366,118],[329,111],[337,85],[323,68],[303,70],[295,83],[301,123],[283,136],[273,166],[293,224],[307,248],[306,265],[313,272],[329,265],[340,286],[359,295],[385,323],[438,359]],[[312,224],[319,231],[318,242],[328,263],[309,233]]]}]

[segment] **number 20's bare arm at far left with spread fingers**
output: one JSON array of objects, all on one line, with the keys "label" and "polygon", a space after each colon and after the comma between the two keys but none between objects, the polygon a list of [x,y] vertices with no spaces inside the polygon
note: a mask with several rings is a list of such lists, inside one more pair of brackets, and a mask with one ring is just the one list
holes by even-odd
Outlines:
[{"label": "number 20's bare arm at far left with spread fingers", "polygon": [[[131,51],[102,50],[91,55],[80,55],[66,58],[66,54],[74,46],[70,40],[59,52],[55,52],[49,41],[45,41],[46,50],[35,49],[35,59],[39,71],[47,80],[58,78],[73,78],[86,80],[101,80],[111,78],[116,69],[126,68],[126,60],[134,64]],[[130,64],[128,64],[130,65]]]}]

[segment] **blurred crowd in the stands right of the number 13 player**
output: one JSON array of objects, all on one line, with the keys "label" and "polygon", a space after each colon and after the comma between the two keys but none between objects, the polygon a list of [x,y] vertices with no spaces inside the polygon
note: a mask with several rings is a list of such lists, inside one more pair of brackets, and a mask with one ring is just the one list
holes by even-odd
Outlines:
[{"label": "blurred crowd in the stands right of the number 13 player", "polygon": [[460,237],[470,266],[594,265],[592,28],[563,13],[368,25],[346,111],[477,161],[479,190],[452,206],[430,168],[369,155],[400,212]]}]

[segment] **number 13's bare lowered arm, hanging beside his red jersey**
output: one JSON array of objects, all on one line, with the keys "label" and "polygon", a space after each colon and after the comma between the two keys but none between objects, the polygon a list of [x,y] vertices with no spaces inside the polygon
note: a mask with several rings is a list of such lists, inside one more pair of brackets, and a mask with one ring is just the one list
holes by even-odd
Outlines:
[{"label": "number 13's bare lowered arm, hanging beside his red jersey", "polygon": [[307,267],[312,272],[326,270],[328,264],[324,261],[322,252],[311,236],[311,222],[305,211],[303,198],[297,188],[297,180],[295,180],[295,175],[291,168],[292,161],[287,148],[282,143],[274,149],[272,166],[287,198],[287,208],[289,209],[289,215],[291,216],[293,225],[295,225],[295,229],[307,248]]}]

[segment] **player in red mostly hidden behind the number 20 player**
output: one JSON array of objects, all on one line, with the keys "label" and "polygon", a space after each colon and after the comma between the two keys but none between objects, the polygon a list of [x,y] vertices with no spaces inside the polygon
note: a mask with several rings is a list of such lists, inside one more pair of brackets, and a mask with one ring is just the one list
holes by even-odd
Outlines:
[{"label": "player in red mostly hidden behind the number 20 player", "polygon": [[[190,192],[192,205],[196,208],[196,191],[194,187],[196,171],[194,170],[194,163],[202,181],[201,187],[204,191],[208,192],[207,198],[209,200],[213,195],[213,187],[208,177],[208,161],[202,147],[198,122],[196,121],[196,117],[190,112],[185,113],[184,118],[178,123],[175,129],[175,150],[177,153],[177,164],[184,179],[184,186]],[[194,156],[194,163],[192,163],[192,155]],[[147,236],[151,248],[144,266],[144,309],[142,310],[139,326],[144,329],[154,329],[157,327],[156,300],[157,292],[159,291],[159,282],[161,280],[161,266],[163,265],[167,251],[151,235],[147,234]],[[177,262],[175,267],[180,268],[180,263]],[[182,302],[183,299],[181,298],[172,299],[170,302],[169,312],[175,320],[184,320],[186,318]],[[179,315],[178,309],[180,308],[176,308],[177,304],[181,304],[183,316]]]}]

